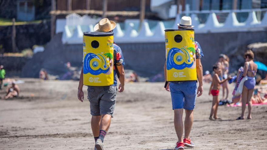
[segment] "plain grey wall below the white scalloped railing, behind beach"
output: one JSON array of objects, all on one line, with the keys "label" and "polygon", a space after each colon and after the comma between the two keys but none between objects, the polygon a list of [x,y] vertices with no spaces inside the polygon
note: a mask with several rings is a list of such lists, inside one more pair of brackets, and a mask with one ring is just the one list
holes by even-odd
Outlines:
[{"label": "plain grey wall below the white scalloped railing, behind beach", "polygon": [[[82,45],[66,45],[61,42],[62,33],[57,34],[47,45],[45,51],[34,55],[22,71],[23,77],[36,77],[39,69],[45,68],[48,73],[63,72],[64,64],[71,62],[73,66],[81,66]],[[218,55],[224,53],[230,57],[230,72],[234,72],[244,64],[243,54],[247,45],[255,42],[267,42],[267,31],[230,32],[196,34],[204,53],[201,59],[203,70],[212,70]],[[115,39],[116,42],[116,39]],[[164,43],[116,43],[123,50],[125,68],[136,71],[144,77],[163,74],[165,61]],[[259,55],[255,55],[257,60]]]}]

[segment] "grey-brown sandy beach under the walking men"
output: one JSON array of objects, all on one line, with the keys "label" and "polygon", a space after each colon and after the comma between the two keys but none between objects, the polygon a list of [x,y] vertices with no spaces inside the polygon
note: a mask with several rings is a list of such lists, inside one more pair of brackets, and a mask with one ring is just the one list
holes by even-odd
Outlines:
[{"label": "grey-brown sandy beach under the walking men", "polygon": [[[18,99],[0,99],[0,149],[92,149],[90,107],[77,99],[77,81],[20,78]],[[171,96],[164,83],[128,83],[118,93],[106,150],[171,150],[177,142]],[[219,106],[210,121],[209,84],[197,98],[190,138],[198,149],[267,149],[267,105],[252,108],[251,120],[235,119],[241,107]],[[230,91],[234,85],[230,85]],[[5,90],[0,91],[4,95]],[[231,93],[230,92],[230,93]],[[220,93],[221,94],[221,93]],[[247,109],[246,109],[247,115]]]}]

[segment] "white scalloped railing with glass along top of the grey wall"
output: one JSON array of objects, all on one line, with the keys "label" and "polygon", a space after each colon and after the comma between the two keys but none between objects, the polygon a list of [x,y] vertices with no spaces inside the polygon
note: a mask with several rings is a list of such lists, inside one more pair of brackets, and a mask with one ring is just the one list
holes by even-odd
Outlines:
[{"label": "white scalloped railing with glass along top of the grey wall", "polygon": [[[267,9],[253,9],[251,10],[224,10],[220,11],[228,13],[228,16],[224,23],[219,23],[216,17],[216,11],[208,11],[209,16],[204,24],[199,22],[199,18],[196,13],[192,13],[192,25],[194,25],[195,33],[219,33],[219,32],[245,32],[245,31],[263,31],[267,29]],[[256,11],[266,11],[261,21],[258,21],[256,17]],[[238,22],[235,12],[249,12],[248,18],[245,22]],[[184,13],[184,12],[183,12]],[[186,12],[185,12],[186,13]],[[201,11],[199,13],[204,13]],[[73,15],[73,20],[77,19],[77,15]],[[76,17],[76,18],[75,18]],[[83,17],[82,17],[83,18]],[[85,18],[85,17],[84,17]],[[70,19],[70,17],[68,18]],[[81,19],[81,18],[80,18]],[[87,18],[86,18],[87,19]],[[90,19],[89,19],[90,20]],[[72,21],[66,21],[66,25],[63,31],[62,42],[65,44],[80,44],[83,41],[83,32],[93,31],[94,24],[86,24],[79,21],[79,24],[74,25],[70,23]],[[77,21],[78,22],[78,21]],[[97,21],[95,20],[95,23]],[[180,15],[176,16],[173,28],[177,28],[177,23],[180,22]],[[137,20],[127,20],[125,22],[125,30],[120,28],[120,24],[114,29],[114,38],[117,43],[147,43],[147,42],[164,42],[164,23],[159,21],[157,26],[151,31],[148,21],[145,20],[138,32],[136,30]]]}]

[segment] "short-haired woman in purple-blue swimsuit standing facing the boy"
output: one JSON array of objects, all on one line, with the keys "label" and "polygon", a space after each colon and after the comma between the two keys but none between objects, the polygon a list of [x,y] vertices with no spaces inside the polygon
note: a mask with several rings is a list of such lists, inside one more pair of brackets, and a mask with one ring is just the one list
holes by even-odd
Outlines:
[{"label": "short-haired woman in purple-blue swimsuit standing facing the boy", "polygon": [[248,76],[248,80],[244,82],[243,91],[242,91],[242,114],[237,120],[244,119],[244,113],[246,109],[246,103],[248,104],[248,119],[251,119],[251,109],[252,102],[251,98],[253,95],[254,87],[256,84],[255,76],[257,72],[257,65],[253,62],[254,54],[251,50],[245,52],[245,65],[243,76]]}]

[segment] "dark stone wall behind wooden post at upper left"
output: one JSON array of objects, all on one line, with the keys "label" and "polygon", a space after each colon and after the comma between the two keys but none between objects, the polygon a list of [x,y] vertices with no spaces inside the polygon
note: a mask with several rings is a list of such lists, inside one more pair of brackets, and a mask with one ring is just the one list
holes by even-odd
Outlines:
[{"label": "dark stone wall behind wooden post at upper left", "polygon": [[[50,21],[16,25],[16,47],[19,52],[33,45],[45,45],[50,40]],[[0,26],[0,45],[4,52],[12,52],[12,26]]]}]

